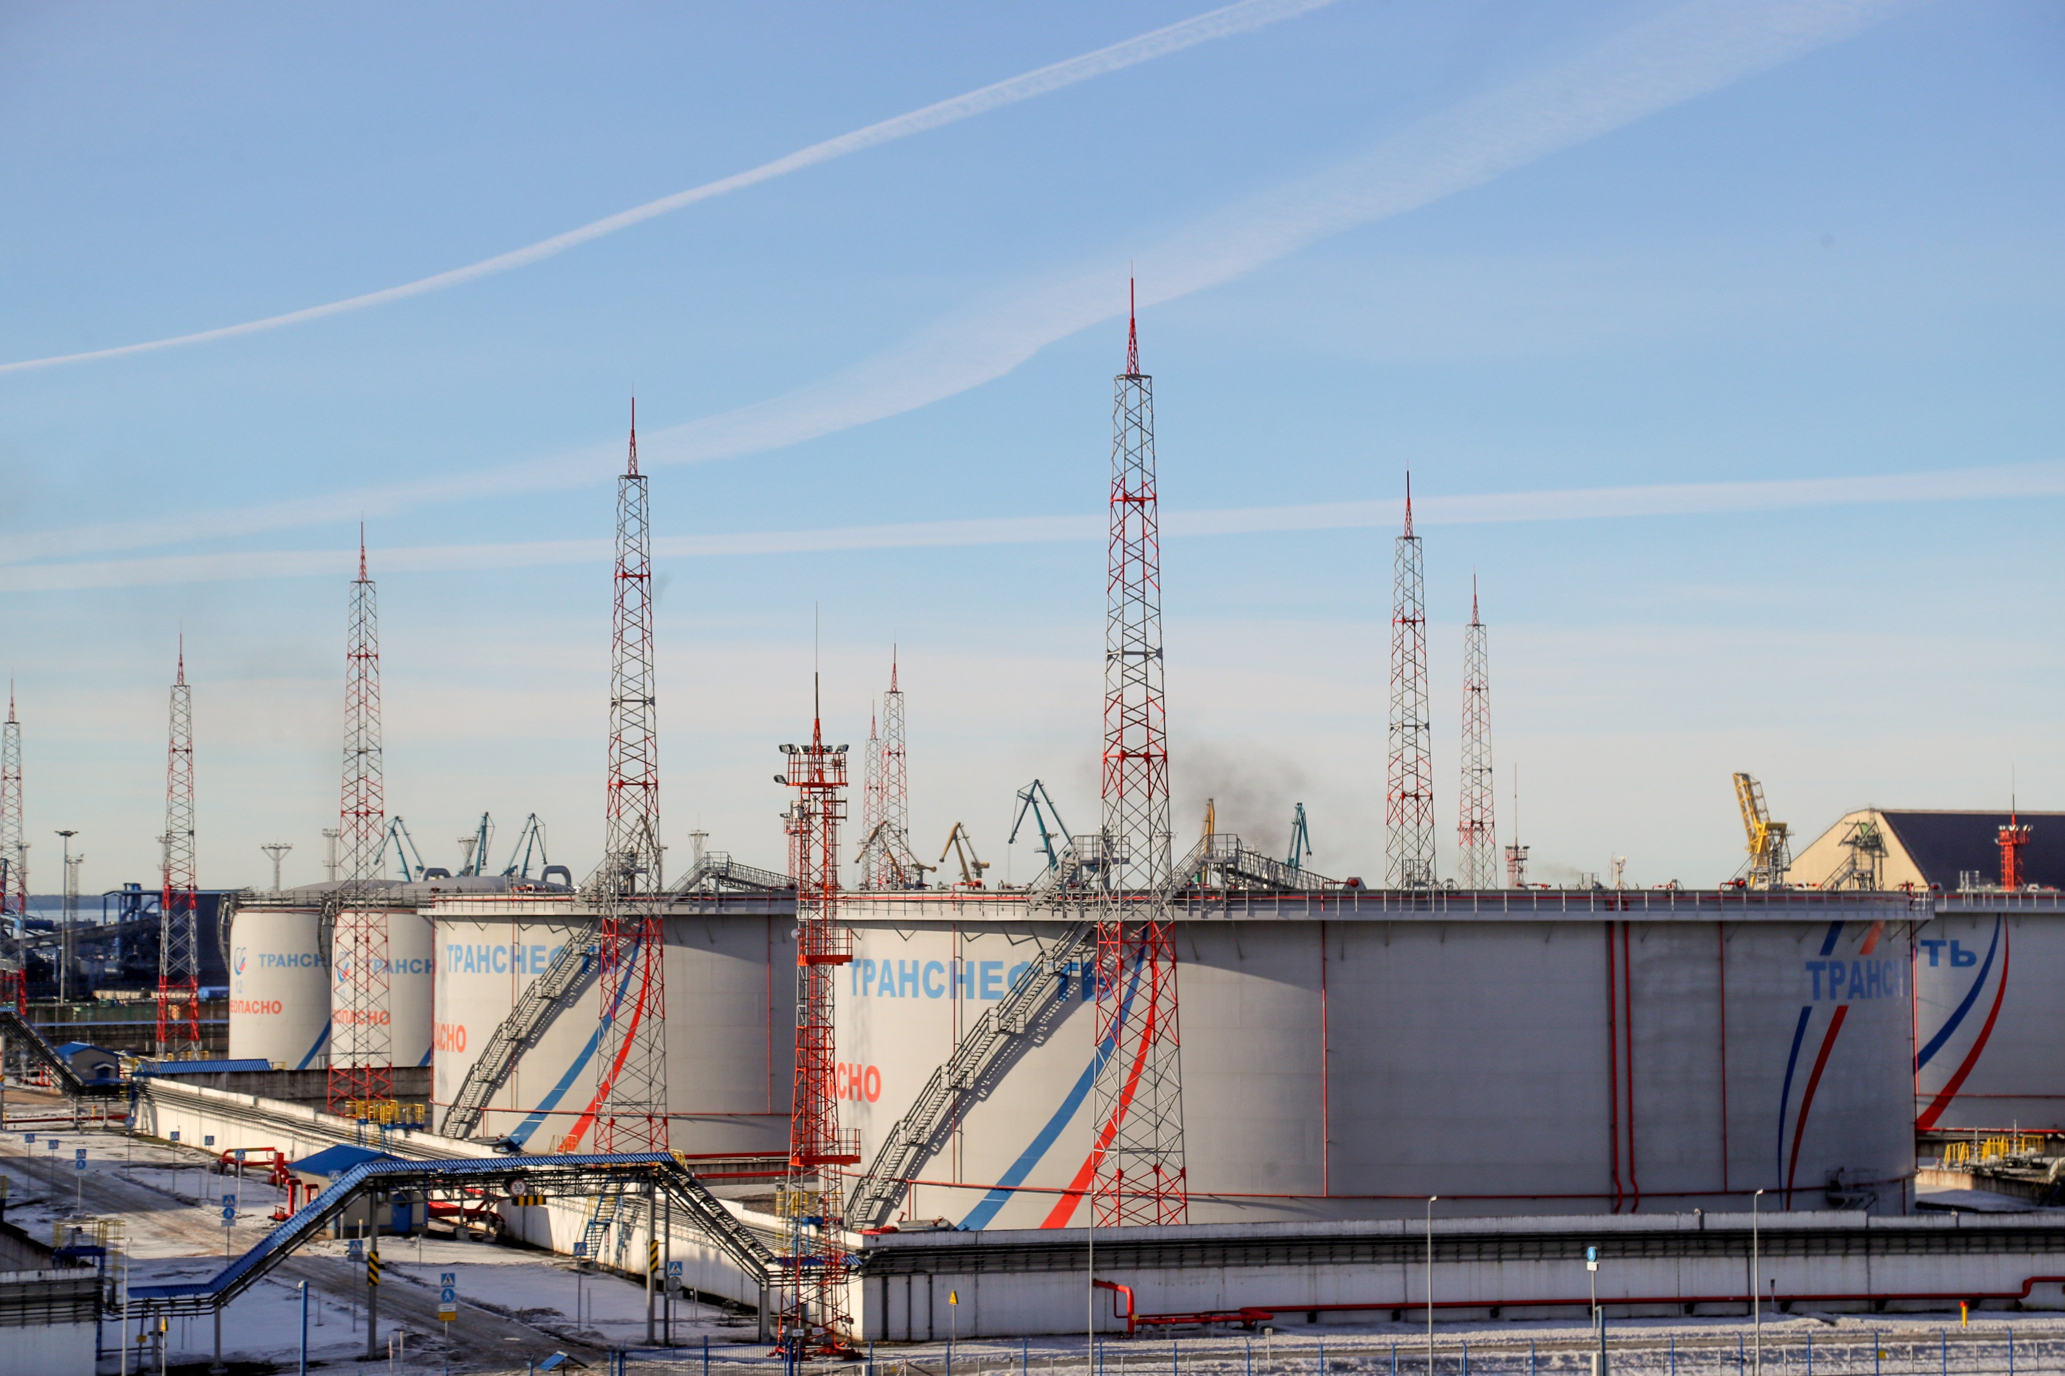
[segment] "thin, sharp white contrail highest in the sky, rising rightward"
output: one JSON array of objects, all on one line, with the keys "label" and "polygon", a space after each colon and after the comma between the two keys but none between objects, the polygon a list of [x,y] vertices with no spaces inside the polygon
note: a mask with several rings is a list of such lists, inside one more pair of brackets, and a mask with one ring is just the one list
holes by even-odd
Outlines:
[{"label": "thin, sharp white contrail highest in the sky, rising rightward", "polygon": [[630,210],[620,210],[617,215],[605,215],[599,221],[591,221],[578,229],[568,229],[566,233],[553,235],[549,239],[539,239],[529,248],[518,248],[508,254],[498,254],[494,258],[483,258],[481,262],[467,264],[463,268],[452,268],[450,272],[438,272],[434,276],[421,276],[413,283],[403,283],[401,287],[386,287],[382,291],[368,291],[357,297],[345,297],[343,301],[328,301],[324,305],[310,305],[306,309],[287,312],[285,316],[266,316],[264,320],[246,320],[244,324],[221,326],[215,330],[198,330],[194,334],[176,334],[171,338],[153,338],[140,345],[120,345],[116,349],[89,349],[85,353],[60,353],[47,359],[21,359],[17,363],[0,363],[0,373],[19,373],[35,367],[56,367],[58,363],[91,363],[95,359],[120,359],[130,353],[153,353],[157,349],[176,349],[180,345],[206,345],[219,338],[235,338],[237,334],[256,334],[258,330],[277,330],[289,324],[301,324],[306,320],[322,320],[324,316],[341,316],[345,312],[359,312],[370,305],[386,305],[388,301],[403,301],[407,297],[419,297],[430,291],[444,291],[446,287],[458,287],[460,283],[471,283],[481,276],[494,276],[496,272],[508,272],[510,268],[522,268],[533,262],[541,262],[555,254],[564,254],[570,248],[586,243],[591,239],[601,239],[620,229],[630,229],[632,225],[642,225],[659,215],[669,215],[692,206],[700,200],[712,200],[729,192],[743,190],[748,186],[758,186],[760,182],[772,182],[774,177],[785,177],[791,171],[801,171],[818,163],[828,163],[834,157],[847,157],[849,153],[859,153],[863,149],[873,149],[898,138],[909,138],[911,134],[923,134],[946,124],[958,124],[960,120],[971,120],[981,113],[989,113],[1002,105],[1016,105],[1018,101],[1028,101],[1037,95],[1047,95],[1049,91],[1059,91],[1061,87],[1072,87],[1080,80],[1090,80],[1092,76],[1105,76],[1107,72],[1117,72],[1127,66],[1138,66],[1142,62],[1152,62],[1154,58],[1165,58],[1173,52],[1183,52],[1185,47],[1196,47],[1198,43],[1210,43],[1212,39],[1233,37],[1237,33],[1249,33],[1266,25],[1274,25],[1280,19],[1293,19],[1307,10],[1332,4],[1334,0],[1241,0],[1241,4],[1229,4],[1220,10],[1208,14],[1198,14],[1196,19],[1185,19],[1181,23],[1169,25],[1165,29],[1154,29],[1152,33],[1142,33],[1130,37],[1123,43],[1111,43],[1109,47],[1099,47],[1097,52],[1082,54],[1080,58],[1070,58],[1066,62],[1055,62],[1051,66],[1035,68],[1020,76],[993,83],[979,91],[968,91],[966,95],[956,95],[948,101],[938,101],[925,105],[923,109],[913,109],[909,113],[896,116],[894,120],[882,120],[880,124],[869,124],[867,128],[853,130],[851,134],[840,134],[838,138],[826,138],[824,142],[814,142],[807,149],[797,149],[787,157],[779,157],[772,163],[762,163],[748,171],[733,173],[729,177],[719,177],[717,182],[704,182],[702,186],[692,186],[686,192],[675,192],[673,196],[661,196],[659,200],[648,200],[642,206],[632,206]]}]

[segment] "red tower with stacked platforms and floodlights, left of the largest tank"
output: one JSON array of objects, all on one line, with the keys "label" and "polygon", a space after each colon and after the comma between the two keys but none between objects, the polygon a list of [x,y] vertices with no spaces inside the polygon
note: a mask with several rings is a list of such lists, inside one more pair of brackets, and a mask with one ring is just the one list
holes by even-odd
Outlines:
[{"label": "red tower with stacked platforms and floodlights, left of the largest tank", "polygon": [[[812,687],[816,699],[816,687]],[[824,745],[816,706],[809,745],[785,745],[795,790],[783,813],[795,879],[795,1081],[789,1114],[789,1180],[779,1199],[789,1236],[781,1254],[776,1339],[795,1359],[851,1353],[845,1203],[838,1166],[861,1159],[859,1131],[838,1126],[834,974],[853,959],[853,932],[838,920],[838,823],[847,817],[847,747]]]}]

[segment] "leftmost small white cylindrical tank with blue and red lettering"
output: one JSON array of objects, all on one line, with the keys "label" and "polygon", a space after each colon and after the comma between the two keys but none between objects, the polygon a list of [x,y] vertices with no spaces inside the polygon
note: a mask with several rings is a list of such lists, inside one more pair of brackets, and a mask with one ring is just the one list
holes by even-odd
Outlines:
[{"label": "leftmost small white cylindrical tank with blue and red lettering", "polygon": [[229,1054],[289,1071],[322,1069],[330,1040],[330,970],[320,895],[237,908],[229,928]]}]

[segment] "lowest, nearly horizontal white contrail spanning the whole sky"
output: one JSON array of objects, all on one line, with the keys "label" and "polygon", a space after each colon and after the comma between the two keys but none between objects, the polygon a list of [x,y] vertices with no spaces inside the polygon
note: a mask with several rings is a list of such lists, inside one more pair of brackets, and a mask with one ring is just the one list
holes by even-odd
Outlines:
[{"label": "lowest, nearly horizontal white contrail spanning the whole sky", "polygon": [[[1412,503],[1415,526],[1481,526],[1545,520],[1613,520],[1658,516],[1726,516],[1805,507],[1914,501],[2001,501],[2065,497],[2065,462],[1997,468],[1941,468],[1846,479],[1776,479],[1753,483],[1664,483],[1652,487],[1590,487],[1538,493],[1423,495]],[[1402,503],[1328,501],[1311,505],[1165,512],[1169,538],[1266,534],[1282,530],[1390,530]],[[828,530],[750,530],[741,534],[657,536],[657,559],[725,559],[750,555],[830,555],[867,549],[948,549],[985,545],[1059,545],[1105,538],[1105,514],[999,516],[896,526]],[[355,549],[248,551],[159,555],[0,567],[0,592],[66,592],[149,584],[237,582],[252,578],[347,578]],[[564,563],[609,563],[611,540],[510,540],[498,545],[423,545],[374,549],[376,576],[456,569],[516,569]]]}]

